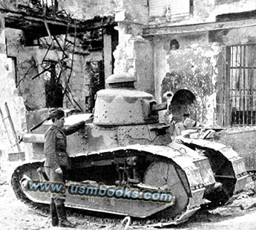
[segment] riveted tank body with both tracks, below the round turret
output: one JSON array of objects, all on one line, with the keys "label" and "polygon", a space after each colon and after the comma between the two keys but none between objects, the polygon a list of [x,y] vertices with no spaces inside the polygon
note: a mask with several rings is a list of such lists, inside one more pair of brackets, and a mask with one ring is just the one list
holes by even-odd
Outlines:
[{"label": "riveted tank body with both tracks, below the round turret", "polygon": [[[75,138],[76,144],[81,145],[76,149],[84,145],[88,151],[71,157],[72,171],[65,184],[65,205],[70,208],[151,220],[154,226],[160,220],[162,225],[178,224],[200,209],[206,199],[214,204],[225,203],[251,180],[243,160],[232,148],[203,139],[171,142],[164,124],[102,127],[89,123]],[[30,134],[25,139],[41,143],[42,134]],[[220,159],[227,170],[217,167]],[[16,168],[12,185],[19,199],[50,203],[50,192],[29,191],[24,186],[30,181],[52,183],[42,173],[43,164],[44,161],[33,162]],[[221,188],[216,188],[217,183]],[[152,194],[171,194],[171,200],[101,197],[81,194],[76,186],[80,190],[81,186],[93,186],[97,191],[104,188],[122,192],[129,188],[140,196],[149,189]]]}]

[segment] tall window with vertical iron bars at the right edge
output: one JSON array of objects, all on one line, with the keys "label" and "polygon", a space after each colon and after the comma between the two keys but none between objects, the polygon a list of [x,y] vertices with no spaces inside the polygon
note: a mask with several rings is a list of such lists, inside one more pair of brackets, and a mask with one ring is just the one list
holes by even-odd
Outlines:
[{"label": "tall window with vertical iron bars at the right edge", "polygon": [[226,47],[226,125],[256,125],[256,44]]}]

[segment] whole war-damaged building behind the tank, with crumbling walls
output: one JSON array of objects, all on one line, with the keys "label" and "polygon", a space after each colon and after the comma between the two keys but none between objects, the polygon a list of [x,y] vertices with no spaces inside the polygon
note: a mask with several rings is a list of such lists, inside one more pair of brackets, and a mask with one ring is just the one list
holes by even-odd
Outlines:
[{"label": "whole war-damaged building behind the tank, with crumbling walls", "polygon": [[90,113],[105,79],[125,71],[168,100],[175,122],[189,112],[229,128],[220,141],[253,168],[255,13],[252,0],[1,1],[1,108],[7,102],[18,133],[47,108]]}]

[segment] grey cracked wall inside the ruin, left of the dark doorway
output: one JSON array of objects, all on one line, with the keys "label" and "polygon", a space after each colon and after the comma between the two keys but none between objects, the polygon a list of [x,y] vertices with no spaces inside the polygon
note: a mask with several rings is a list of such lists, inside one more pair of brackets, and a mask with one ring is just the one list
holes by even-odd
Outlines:
[{"label": "grey cracked wall inside the ruin, left of the dark doorway", "polygon": [[36,47],[24,47],[22,30],[6,29],[7,55],[16,58],[16,86],[24,99],[27,111],[45,107],[45,81],[39,73],[41,62],[36,58]]}]

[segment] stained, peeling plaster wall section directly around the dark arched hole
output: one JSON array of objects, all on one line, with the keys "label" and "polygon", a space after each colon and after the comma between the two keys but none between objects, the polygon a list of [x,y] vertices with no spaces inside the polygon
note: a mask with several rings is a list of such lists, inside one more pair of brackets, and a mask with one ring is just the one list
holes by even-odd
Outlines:
[{"label": "stained, peeling plaster wall section directly around the dark arched hole", "polygon": [[[171,39],[180,43],[178,50],[170,50]],[[221,47],[208,42],[208,33],[158,36],[154,39],[154,76],[157,101],[171,91],[186,89],[194,94],[193,108],[197,120],[205,125],[216,122],[217,59]]]}]

